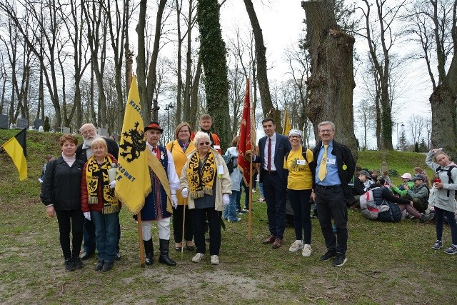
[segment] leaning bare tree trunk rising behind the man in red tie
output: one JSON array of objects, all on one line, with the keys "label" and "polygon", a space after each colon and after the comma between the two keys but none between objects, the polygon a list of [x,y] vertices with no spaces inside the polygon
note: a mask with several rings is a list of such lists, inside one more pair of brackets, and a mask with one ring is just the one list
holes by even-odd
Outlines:
[{"label": "leaning bare tree trunk rising behind the man in red tie", "polygon": [[[263,44],[263,34],[260,24],[258,23],[256,10],[251,0],[244,0],[244,6],[251,21],[252,33],[256,41],[256,59],[257,59],[257,83],[258,91],[260,91],[260,99],[262,104],[263,115],[268,114],[273,117],[276,122],[276,131],[281,131],[281,111],[274,109],[271,101],[270,87],[268,86],[268,75],[266,69],[266,47]],[[273,109],[273,111],[272,111]]]}]

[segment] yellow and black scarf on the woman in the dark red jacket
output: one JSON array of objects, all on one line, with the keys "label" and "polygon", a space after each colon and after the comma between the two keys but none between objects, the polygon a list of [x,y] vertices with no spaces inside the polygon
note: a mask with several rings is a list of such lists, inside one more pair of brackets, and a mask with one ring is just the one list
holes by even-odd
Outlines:
[{"label": "yellow and black scarf on the woman in the dark red jacket", "polygon": [[103,214],[110,214],[119,211],[119,201],[114,196],[114,189],[109,188],[108,169],[111,169],[112,159],[105,156],[102,164],[98,164],[95,156],[87,161],[86,184],[89,195],[89,204],[99,203],[99,183],[103,188]]}]

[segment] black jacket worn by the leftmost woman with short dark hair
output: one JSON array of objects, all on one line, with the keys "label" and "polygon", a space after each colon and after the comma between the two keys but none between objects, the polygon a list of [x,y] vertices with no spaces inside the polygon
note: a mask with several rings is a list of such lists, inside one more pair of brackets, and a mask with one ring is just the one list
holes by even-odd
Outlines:
[{"label": "black jacket worn by the leftmost woman with short dark hair", "polygon": [[45,206],[54,204],[57,210],[81,209],[83,167],[84,162],[78,159],[70,167],[62,156],[50,161],[41,184],[41,202]]}]

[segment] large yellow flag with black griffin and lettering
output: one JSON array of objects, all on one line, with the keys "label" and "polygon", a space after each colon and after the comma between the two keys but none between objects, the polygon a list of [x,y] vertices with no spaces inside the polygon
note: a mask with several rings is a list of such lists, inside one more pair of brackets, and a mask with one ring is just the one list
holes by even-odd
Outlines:
[{"label": "large yellow flag with black griffin and lettering", "polygon": [[133,214],[138,214],[144,206],[144,199],[151,193],[151,178],[136,76],[131,80],[127,98],[118,161],[116,196]]}]

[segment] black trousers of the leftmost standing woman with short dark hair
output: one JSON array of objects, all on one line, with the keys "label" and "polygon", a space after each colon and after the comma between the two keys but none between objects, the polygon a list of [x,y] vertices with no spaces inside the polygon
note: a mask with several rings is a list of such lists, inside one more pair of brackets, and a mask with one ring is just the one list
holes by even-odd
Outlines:
[{"label": "black trousers of the leftmost standing woman with short dark hair", "polygon": [[[59,239],[65,259],[78,257],[83,243],[84,214],[81,209],[56,210],[57,222],[59,223]],[[73,248],[70,250],[70,232],[73,237]],[[72,255],[73,254],[73,255]]]}]

